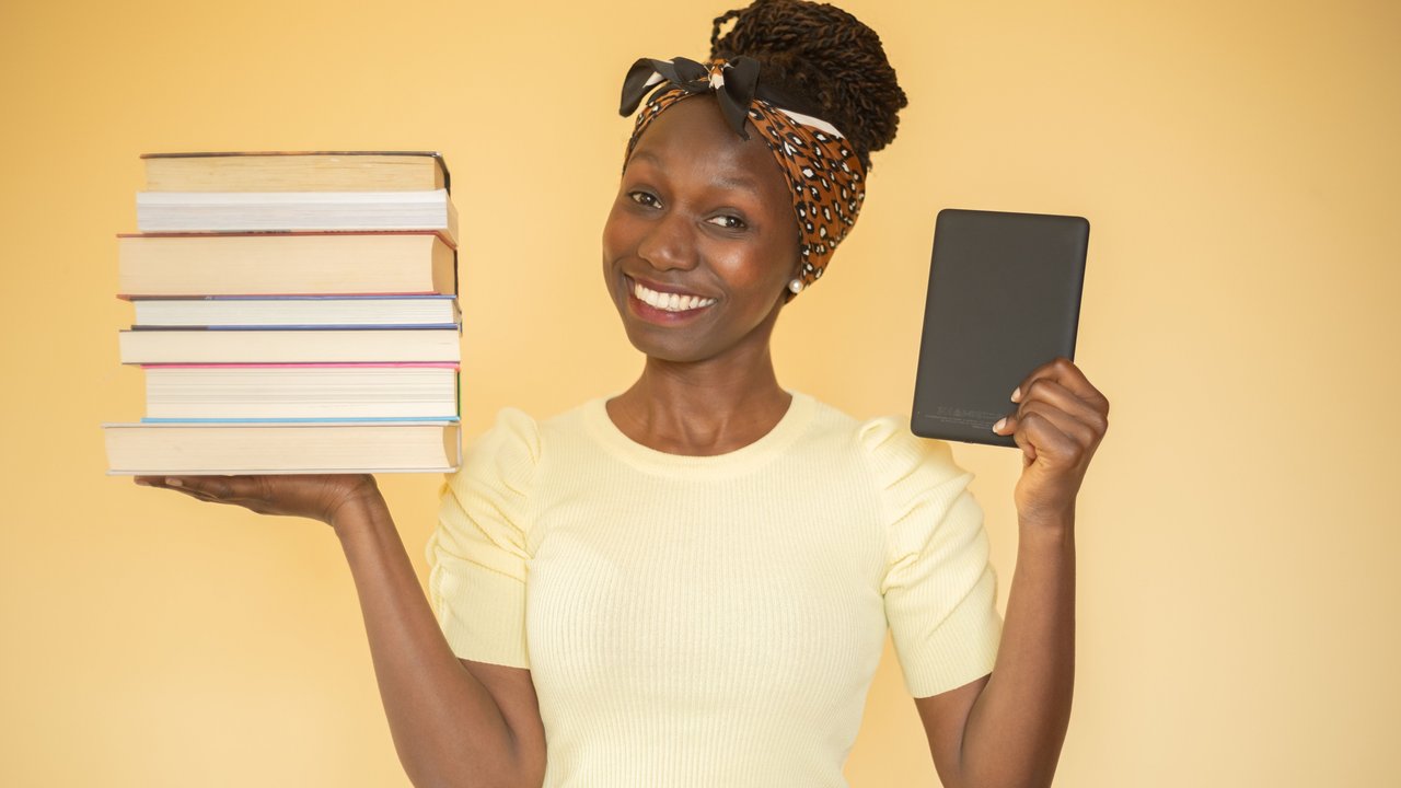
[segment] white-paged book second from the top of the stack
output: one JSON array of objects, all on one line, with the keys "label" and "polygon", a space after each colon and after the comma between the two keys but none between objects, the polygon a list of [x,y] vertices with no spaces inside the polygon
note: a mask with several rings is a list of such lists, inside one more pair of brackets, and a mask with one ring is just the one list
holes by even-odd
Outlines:
[{"label": "white-paged book second from the top of the stack", "polygon": [[457,243],[447,189],[432,192],[137,192],[142,233],[436,230]]}]

